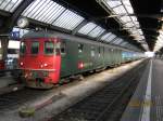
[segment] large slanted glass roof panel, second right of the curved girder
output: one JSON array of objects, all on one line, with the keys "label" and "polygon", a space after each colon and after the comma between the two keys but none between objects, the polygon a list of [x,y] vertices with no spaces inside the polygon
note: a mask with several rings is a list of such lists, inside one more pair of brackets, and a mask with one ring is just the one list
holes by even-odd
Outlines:
[{"label": "large slanted glass roof panel, second right of the curved girder", "polygon": [[70,10],[66,10],[60,17],[58,17],[58,19],[54,23],[52,23],[52,25],[73,30],[83,21],[84,17],[77,15],[76,13]]}]

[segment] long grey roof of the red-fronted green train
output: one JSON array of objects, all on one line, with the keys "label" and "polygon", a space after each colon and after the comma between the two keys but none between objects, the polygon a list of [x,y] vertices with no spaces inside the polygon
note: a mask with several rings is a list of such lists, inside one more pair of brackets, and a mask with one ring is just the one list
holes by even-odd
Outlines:
[{"label": "long grey roof of the red-fronted green train", "polygon": [[68,33],[58,32],[58,31],[29,31],[26,35],[22,37],[22,39],[29,39],[29,38],[60,38],[67,41],[74,41],[74,42],[83,42],[83,43],[89,43],[89,44],[96,44],[96,45],[104,45],[110,48],[116,48],[124,51],[130,51],[121,46],[110,45],[106,43],[89,40],[82,37],[76,37]]}]

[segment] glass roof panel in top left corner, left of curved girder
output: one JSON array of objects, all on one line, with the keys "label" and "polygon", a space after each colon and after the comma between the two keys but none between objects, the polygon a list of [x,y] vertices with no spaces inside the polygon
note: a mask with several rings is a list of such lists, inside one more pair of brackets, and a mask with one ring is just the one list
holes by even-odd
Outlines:
[{"label": "glass roof panel in top left corner, left of curved girder", "polygon": [[13,12],[23,0],[1,0],[0,10]]}]

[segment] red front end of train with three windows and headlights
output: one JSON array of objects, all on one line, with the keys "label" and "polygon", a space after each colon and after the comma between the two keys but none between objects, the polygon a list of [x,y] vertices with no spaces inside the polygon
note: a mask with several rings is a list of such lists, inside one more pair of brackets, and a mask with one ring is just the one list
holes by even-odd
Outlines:
[{"label": "red front end of train with three windows and headlights", "polygon": [[22,40],[18,63],[27,86],[52,88],[60,80],[60,41],[53,38]]}]

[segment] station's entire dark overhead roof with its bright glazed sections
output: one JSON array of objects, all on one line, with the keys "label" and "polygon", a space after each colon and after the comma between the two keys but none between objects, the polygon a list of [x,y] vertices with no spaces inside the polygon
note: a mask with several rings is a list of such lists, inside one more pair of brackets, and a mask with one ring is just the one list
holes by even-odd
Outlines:
[{"label": "station's entire dark overhead roof with its bright glazed sections", "polygon": [[16,27],[20,17],[27,17],[30,27],[57,29],[134,50],[161,48],[161,39],[156,41],[158,36],[161,38],[161,0],[0,1],[1,33]]}]

